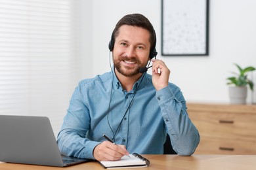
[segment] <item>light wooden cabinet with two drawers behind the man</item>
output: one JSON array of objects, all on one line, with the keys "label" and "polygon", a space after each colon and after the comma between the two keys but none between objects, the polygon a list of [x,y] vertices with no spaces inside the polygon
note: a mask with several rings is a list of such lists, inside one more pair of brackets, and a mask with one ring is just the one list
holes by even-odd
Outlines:
[{"label": "light wooden cabinet with two drawers behind the man", "polygon": [[201,137],[195,154],[256,154],[256,105],[187,107]]}]

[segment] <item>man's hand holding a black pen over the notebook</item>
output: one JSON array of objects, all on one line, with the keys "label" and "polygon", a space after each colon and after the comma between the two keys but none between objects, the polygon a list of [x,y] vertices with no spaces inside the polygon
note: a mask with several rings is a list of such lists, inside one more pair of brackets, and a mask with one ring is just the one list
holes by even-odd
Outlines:
[{"label": "man's hand holding a black pen over the notebook", "polygon": [[120,160],[121,157],[128,155],[129,152],[125,149],[123,145],[117,145],[110,143],[109,141],[104,141],[98,144],[93,150],[93,156],[95,160],[111,160],[116,161]]}]

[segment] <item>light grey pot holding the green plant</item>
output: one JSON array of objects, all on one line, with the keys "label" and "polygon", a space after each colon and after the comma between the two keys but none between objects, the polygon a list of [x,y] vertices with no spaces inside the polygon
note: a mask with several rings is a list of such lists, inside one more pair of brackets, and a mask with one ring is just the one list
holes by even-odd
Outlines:
[{"label": "light grey pot holding the green plant", "polygon": [[247,87],[229,87],[229,97],[231,105],[245,105]]}]

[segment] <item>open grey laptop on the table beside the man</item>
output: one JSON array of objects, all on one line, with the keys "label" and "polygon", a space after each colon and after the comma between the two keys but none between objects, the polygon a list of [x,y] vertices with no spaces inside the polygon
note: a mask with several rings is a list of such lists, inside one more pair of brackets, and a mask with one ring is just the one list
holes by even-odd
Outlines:
[{"label": "open grey laptop on the table beside the man", "polygon": [[0,115],[0,161],[66,167],[90,160],[60,154],[49,118]]}]

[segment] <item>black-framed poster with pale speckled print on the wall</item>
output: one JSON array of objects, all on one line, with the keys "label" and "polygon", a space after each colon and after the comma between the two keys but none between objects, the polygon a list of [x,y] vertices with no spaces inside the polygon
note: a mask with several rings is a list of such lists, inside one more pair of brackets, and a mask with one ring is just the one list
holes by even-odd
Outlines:
[{"label": "black-framed poster with pale speckled print on the wall", "polygon": [[208,54],[209,0],[161,0],[161,55]]}]

